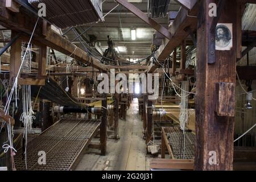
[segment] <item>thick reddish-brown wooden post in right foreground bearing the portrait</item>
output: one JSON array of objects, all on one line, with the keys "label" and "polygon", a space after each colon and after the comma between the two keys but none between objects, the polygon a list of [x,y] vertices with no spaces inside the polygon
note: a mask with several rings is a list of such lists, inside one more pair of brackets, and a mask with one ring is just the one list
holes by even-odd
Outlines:
[{"label": "thick reddish-brown wooden post in right foreground bearing the portrait", "polygon": [[[214,17],[210,17],[209,3],[200,1],[197,24],[197,86],[196,86],[196,170],[232,170],[234,117],[217,115],[216,108],[234,110],[235,94],[230,94],[222,102],[218,101],[219,92],[232,92],[236,82],[236,2],[227,0],[218,23],[232,23],[233,47],[229,51],[217,51],[216,61],[208,64],[210,26]],[[215,41],[214,39],[212,42]],[[218,85],[224,85],[220,87]],[[229,87],[229,85],[231,85]],[[232,86],[233,85],[233,86]],[[220,89],[218,89],[220,88]],[[222,90],[226,88],[226,90]],[[217,104],[217,102],[220,102]],[[212,157],[212,158],[211,158]],[[216,157],[216,163],[214,158]],[[209,162],[210,161],[210,162]]]}]

